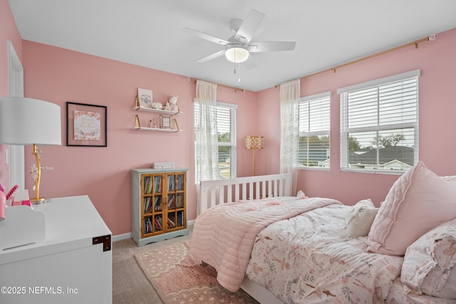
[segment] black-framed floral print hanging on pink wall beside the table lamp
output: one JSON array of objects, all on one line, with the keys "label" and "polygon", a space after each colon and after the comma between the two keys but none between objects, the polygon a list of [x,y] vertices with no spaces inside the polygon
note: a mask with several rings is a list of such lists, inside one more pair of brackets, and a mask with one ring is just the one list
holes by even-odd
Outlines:
[{"label": "black-framed floral print hanging on pink wall beside the table lamp", "polygon": [[66,145],[108,147],[104,105],[66,102]]}]

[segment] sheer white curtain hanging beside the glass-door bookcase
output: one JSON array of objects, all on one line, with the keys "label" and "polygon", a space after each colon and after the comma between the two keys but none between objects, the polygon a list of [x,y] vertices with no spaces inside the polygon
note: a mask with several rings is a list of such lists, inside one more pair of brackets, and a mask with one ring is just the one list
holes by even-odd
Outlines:
[{"label": "sheer white curtain hanging beside the glass-door bookcase", "polygon": [[217,145],[217,85],[197,80],[195,99],[196,182],[219,178]]}]

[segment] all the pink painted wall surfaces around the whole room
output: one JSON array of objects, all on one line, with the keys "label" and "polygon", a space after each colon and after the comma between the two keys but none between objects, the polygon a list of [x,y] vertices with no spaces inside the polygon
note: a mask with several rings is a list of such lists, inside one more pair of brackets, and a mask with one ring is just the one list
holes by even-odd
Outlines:
[{"label": "all the pink painted wall surfaces around the whole room", "polygon": [[[41,194],[48,197],[88,194],[114,235],[130,232],[130,169],[150,167],[152,162],[174,161],[188,167],[188,218],[196,216],[193,147],[193,98],[195,83],[185,76],[141,68],[105,58],[22,41],[6,0],[0,0],[0,95],[7,95],[6,41],[14,43],[25,70],[25,95],[61,105],[60,147],[40,147],[42,164],[55,169],[43,173]],[[456,150],[455,76],[456,29],[440,33],[437,40],[421,43],[418,49],[394,53],[301,80],[301,96],[331,90],[331,170],[301,170],[298,188],[309,196],[326,196],[355,204],[371,198],[378,204],[391,184],[392,174],[361,174],[339,169],[339,99],[337,88],[381,78],[407,70],[421,69],[420,159],[440,175],[456,174],[451,155]],[[131,130],[137,112],[131,110],[137,88],[153,90],[155,100],[179,95],[184,112],[177,116],[178,133]],[[246,135],[263,135],[264,150],[256,154],[256,174],[279,172],[279,88],[240,93],[217,90],[218,100],[237,103],[238,176],[252,172],[252,151],[244,149]],[[108,106],[108,147],[66,147],[66,101]],[[149,116],[140,112],[142,122]],[[450,131],[450,132],[449,132]],[[26,155],[30,154],[26,148]],[[4,172],[4,147],[0,147],[0,182]],[[26,157],[26,187],[31,189]],[[3,172],[3,173],[2,173]],[[6,179],[6,180],[5,180]],[[71,216],[71,215],[68,215]]]}]

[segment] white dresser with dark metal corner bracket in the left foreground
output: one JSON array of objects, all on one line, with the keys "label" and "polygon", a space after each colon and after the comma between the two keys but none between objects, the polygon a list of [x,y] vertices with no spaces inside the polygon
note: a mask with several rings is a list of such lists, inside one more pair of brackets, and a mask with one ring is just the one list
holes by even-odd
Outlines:
[{"label": "white dresser with dark metal corner bracket in the left foreground", "polygon": [[45,214],[44,241],[0,251],[0,303],[112,303],[111,232],[88,196],[33,210]]}]

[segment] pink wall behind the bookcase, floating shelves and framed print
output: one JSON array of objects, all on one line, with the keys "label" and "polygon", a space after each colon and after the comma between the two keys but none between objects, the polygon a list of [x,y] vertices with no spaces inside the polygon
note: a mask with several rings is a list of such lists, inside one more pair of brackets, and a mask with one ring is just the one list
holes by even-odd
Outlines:
[{"label": "pink wall behind the bookcase, floating shelves and framed print", "polygon": [[[98,212],[116,234],[130,232],[130,169],[150,167],[152,162],[175,162],[190,168],[187,178],[188,219],[196,217],[193,100],[195,83],[185,76],[137,65],[88,56],[62,48],[23,41],[25,95],[61,106],[62,146],[41,146],[41,164],[54,167],[42,174],[40,194],[47,197],[88,194]],[[178,95],[183,112],[177,115],[182,132],[132,130],[135,115],[142,125],[157,116],[132,110],[138,88],[153,91],[162,103]],[[238,104],[238,143],[257,132],[256,95],[227,88],[217,90],[217,100]],[[108,147],[66,146],[66,101],[108,106]],[[156,115],[156,114],[155,114]],[[242,146],[243,147],[243,146]],[[26,155],[31,150],[26,147]],[[238,175],[248,175],[249,154],[239,149]],[[247,159],[247,160],[246,160]],[[26,157],[26,168],[34,162]],[[31,189],[32,178],[26,176]]]}]

